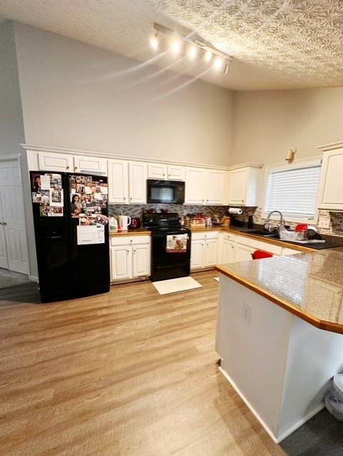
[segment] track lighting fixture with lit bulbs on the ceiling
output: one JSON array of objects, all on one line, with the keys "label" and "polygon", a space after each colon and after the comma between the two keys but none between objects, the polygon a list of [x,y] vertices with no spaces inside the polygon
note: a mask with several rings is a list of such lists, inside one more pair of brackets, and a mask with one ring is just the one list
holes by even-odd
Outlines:
[{"label": "track lighting fixture with lit bulbs on the ceiling", "polygon": [[159,35],[163,33],[172,37],[169,48],[175,56],[178,56],[180,53],[187,53],[188,58],[192,61],[198,56],[200,58],[203,56],[205,62],[210,63],[213,61],[213,68],[215,70],[222,69],[224,74],[229,74],[232,57],[213,48],[210,43],[201,40],[199,36],[194,36],[194,33],[191,31],[185,35],[183,33],[176,34],[175,31],[160,24],[153,24],[153,27],[155,28],[155,35],[150,38],[150,45],[154,50],[158,49]]}]

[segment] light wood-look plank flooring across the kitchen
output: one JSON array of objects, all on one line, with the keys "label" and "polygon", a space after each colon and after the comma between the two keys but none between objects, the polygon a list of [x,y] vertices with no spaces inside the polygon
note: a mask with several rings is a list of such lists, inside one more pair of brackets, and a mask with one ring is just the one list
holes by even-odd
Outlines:
[{"label": "light wood-look plank flooring across the kitchen", "polygon": [[215,276],[165,296],[0,294],[0,455],[284,455],[217,371]]}]

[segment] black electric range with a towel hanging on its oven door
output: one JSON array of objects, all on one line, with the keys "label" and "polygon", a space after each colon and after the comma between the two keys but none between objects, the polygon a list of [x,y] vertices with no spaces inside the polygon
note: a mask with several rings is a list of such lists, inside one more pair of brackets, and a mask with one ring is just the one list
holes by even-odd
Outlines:
[{"label": "black electric range with a towel hanging on its oven door", "polygon": [[[176,279],[190,275],[190,229],[180,225],[175,212],[143,214],[143,225],[151,231],[151,281]],[[185,248],[168,251],[168,236],[180,236]],[[177,239],[177,238],[175,238]]]}]

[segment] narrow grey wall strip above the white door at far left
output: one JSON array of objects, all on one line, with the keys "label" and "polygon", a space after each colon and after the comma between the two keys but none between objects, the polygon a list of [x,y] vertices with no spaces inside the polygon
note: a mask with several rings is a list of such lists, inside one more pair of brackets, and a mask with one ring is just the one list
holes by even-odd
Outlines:
[{"label": "narrow grey wall strip above the white door at far left", "polygon": [[14,24],[0,24],[0,155],[23,152],[23,115],[14,43]]}]

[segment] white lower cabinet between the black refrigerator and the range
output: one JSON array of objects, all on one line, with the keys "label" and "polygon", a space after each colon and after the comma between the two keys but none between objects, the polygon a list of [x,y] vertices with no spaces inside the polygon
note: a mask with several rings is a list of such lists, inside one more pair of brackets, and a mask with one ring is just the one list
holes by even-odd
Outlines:
[{"label": "white lower cabinet between the black refrigerator and the range", "polygon": [[111,238],[111,281],[150,275],[150,237]]}]

